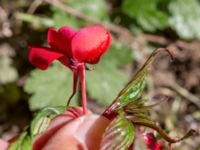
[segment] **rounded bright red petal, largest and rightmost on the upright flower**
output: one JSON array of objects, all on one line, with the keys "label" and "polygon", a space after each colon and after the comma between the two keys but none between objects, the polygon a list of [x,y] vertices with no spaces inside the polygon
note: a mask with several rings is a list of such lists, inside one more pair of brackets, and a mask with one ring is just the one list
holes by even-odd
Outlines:
[{"label": "rounded bright red petal, largest and rightmost on the upright flower", "polygon": [[83,28],[72,39],[72,57],[78,62],[96,64],[110,43],[110,33],[100,25]]}]

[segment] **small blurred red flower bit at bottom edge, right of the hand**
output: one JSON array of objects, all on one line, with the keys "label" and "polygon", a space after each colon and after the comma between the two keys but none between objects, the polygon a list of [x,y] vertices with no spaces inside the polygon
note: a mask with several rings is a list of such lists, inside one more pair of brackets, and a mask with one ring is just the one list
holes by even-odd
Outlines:
[{"label": "small blurred red flower bit at bottom edge, right of the hand", "polygon": [[144,141],[148,150],[161,150],[162,143],[158,142],[152,132],[144,133]]}]

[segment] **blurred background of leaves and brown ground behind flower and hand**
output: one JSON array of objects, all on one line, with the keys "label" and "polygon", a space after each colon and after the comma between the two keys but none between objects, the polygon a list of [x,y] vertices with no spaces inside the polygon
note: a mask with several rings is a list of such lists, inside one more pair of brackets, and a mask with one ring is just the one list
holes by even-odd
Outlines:
[{"label": "blurred background of leaves and brown ground behind flower and hand", "polygon": [[[171,136],[200,130],[199,0],[0,0],[0,137],[23,131],[34,112],[61,106],[72,92],[71,72],[55,62],[48,70],[28,61],[27,45],[47,45],[47,28],[101,24],[113,36],[109,51],[87,72],[89,107],[102,112],[158,47],[143,96],[155,103],[151,116]],[[80,104],[79,94],[72,105]],[[175,145],[200,150],[200,138]]]}]

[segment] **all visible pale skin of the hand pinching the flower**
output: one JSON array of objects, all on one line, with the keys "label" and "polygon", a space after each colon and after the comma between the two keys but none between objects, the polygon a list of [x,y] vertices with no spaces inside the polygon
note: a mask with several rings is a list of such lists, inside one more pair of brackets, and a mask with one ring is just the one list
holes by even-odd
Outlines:
[{"label": "all visible pale skin of the hand pinching the flower", "polygon": [[[52,120],[47,131],[33,141],[33,150],[99,149],[103,133],[110,120],[90,111],[87,115],[75,119],[68,114],[64,112]],[[0,140],[0,150],[7,150],[8,146],[8,142]]]}]

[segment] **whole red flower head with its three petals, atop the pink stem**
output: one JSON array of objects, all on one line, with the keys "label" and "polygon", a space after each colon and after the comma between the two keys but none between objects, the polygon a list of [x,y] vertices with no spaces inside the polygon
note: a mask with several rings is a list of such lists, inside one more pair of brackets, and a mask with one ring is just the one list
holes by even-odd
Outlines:
[{"label": "whole red flower head with its three petals, atop the pink stem", "polygon": [[100,25],[93,25],[79,31],[62,27],[58,31],[48,29],[47,47],[29,46],[29,60],[36,67],[45,70],[54,60],[60,60],[72,68],[70,60],[76,63],[98,63],[110,43],[110,33]]}]

